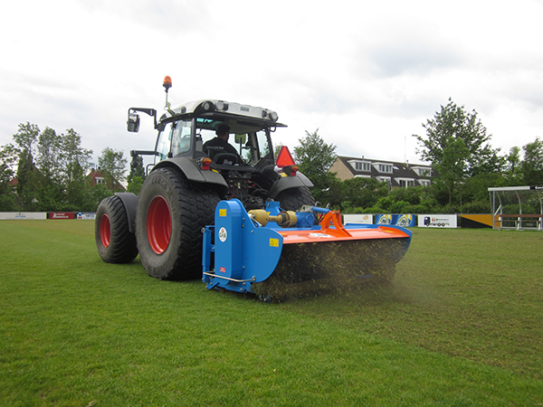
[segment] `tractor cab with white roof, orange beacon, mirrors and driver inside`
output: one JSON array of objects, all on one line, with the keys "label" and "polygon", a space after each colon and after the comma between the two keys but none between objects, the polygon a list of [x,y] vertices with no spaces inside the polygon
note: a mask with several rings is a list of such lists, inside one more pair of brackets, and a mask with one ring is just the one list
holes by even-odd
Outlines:
[{"label": "tractor cab with white roof, orange beacon, mirrors and driver inside", "polygon": [[[171,88],[169,77],[164,87],[166,92]],[[248,209],[263,208],[266,200],[281,198],[286,190],[297,195],[293,205],[313,201],[308,190],[313,185],[298,172],[288,150],[282,156],[289,160],[276,162],[271,134],[286,126],[278,122],[275,111],[220,99],[172,106],[167,97],[165,110],[157,118],[155,109],[129,109],[130,132],[138,131],[138,112],[154,119],[158,132],[155,149],[130,151],[134,159],[154,156],[153,164],[148,165],[151,171],[175,167],[188,181],[206,184],[207,188],[215,185],[222,198],[237,198]],[[224,132],[222,128],[226,127]]]}]

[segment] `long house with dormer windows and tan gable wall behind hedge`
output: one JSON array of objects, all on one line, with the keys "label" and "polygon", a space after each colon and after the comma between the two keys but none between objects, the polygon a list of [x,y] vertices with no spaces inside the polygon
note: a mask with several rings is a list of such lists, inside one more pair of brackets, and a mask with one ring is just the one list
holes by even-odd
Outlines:
[{"label": "long house with dormer windows and tan gable wall behind hedge", "polygon": [[432,166],[353,156],[338,156],[329,172],[336,173],[341,181],[357,176],[386,181],[390,189],[430,185],[433,176]]}]

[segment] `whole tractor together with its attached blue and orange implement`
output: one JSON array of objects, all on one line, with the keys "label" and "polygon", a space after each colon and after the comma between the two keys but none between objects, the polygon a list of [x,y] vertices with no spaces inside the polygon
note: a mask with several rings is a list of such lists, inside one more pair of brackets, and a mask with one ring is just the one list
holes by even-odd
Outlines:
[{"label": "whole tractor together with its attached blue and orange implement", "polygon": [[158,132],[154,150],[130,155],[154,163],[139,195],[100,203],[102,260],[126,263],[139,254],[151,277],[199,278],[208,289],[265,301],[391,279],[411,232],[343,225],[340,213],[319,208],[289,149],[274,154],[271,134],[286,127],[275,111],[215,99],[171,106],[169,77],[163,86],[160,118],[155,109],[129,109],[129,132],[139,129],[138,113],[152,117]]}]

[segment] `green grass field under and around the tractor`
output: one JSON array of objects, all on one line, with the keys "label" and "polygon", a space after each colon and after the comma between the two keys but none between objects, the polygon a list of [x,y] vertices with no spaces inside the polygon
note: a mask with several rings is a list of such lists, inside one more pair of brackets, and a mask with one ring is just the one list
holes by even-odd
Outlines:
[{"label": "green grass field under and around the tractor", "polygon": [[0,405],[543,405],[542,248],[414,229],[390,287],[273,305],[2,221]]}]

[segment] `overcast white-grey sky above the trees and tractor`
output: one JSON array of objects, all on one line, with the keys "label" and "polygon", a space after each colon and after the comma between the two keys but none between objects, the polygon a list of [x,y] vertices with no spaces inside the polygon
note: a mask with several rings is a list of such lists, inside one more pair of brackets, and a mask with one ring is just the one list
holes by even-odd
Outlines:
[{"label": "overcast white-grey sky above the trees and tractor", "polygon": [[276,110],[294,147],[421,163],[413,134],[449,98],[507,153],[543,132],[543,2],[27,0],[0,13],[0,145],[27,121],[82,146],[154,147],[130,107],[224,99]]}]

